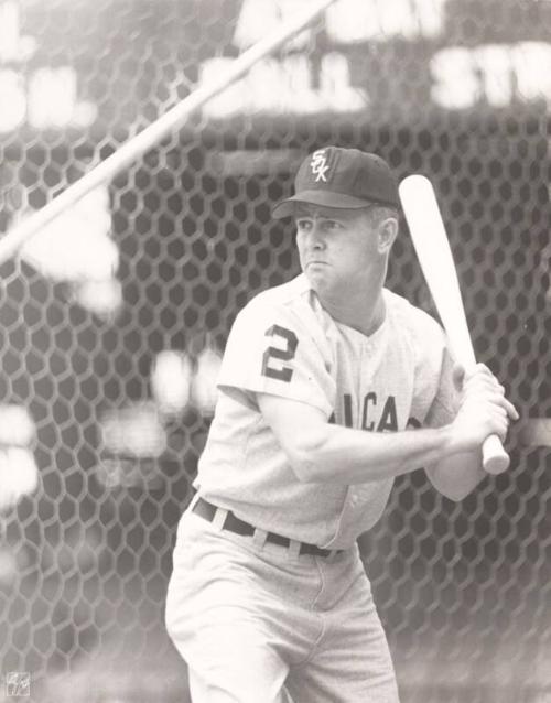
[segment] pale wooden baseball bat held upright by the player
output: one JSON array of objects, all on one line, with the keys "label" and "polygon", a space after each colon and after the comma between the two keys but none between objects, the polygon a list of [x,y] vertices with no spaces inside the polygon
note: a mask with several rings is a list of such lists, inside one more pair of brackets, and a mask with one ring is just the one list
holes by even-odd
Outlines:
[{"label": "pale wooden baseball bat held upright by the player", "polygon": [[[429,179],[415,174],[403,179],[399,194],[419,263],[446,332],[451,352],[468,370],[476,364],[475,353],[434,188]],[[509,466],[509,456],[497,435],[484,442],[483,466],[488,474],[500,474]]]}]

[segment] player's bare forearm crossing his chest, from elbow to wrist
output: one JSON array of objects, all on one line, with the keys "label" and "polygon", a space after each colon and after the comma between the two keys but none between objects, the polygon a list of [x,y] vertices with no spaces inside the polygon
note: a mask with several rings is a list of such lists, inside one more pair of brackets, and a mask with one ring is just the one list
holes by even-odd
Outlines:
[{"label": "player's bare forearm crossing his chest, from elbow to wrist", "polygon": [[359,484],[439,464],[457,451],[450,425],[376,433],[327,424],[323,433],[303,436],[290,458],[301,480]]}]

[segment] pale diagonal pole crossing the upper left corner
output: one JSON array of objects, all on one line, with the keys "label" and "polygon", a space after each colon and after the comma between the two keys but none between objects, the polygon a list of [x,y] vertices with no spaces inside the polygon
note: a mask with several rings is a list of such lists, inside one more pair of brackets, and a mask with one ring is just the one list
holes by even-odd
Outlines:
[{"label": "pale diagonal pole crossing the upper left corner", "polygon": [[0,239],[0,263],[8,260],[28,239],[51,223],[57,215],[61,215],[66,208],[77,203],[95,187],[114,179],[120,171],[139,159],[164,137],[181,128],[192,112],[241,78],[253,64],[311,24],[334,2],[335,0],[317,2],[314,7],[310,7],[304,12],[292,18],[282,28],[274,30],[257,42],[236,58],[228,71],[222,72],[216,80],[194,90],[155,122],[125,142],[114,154],[67,187],[42,209],[10,229]]}]

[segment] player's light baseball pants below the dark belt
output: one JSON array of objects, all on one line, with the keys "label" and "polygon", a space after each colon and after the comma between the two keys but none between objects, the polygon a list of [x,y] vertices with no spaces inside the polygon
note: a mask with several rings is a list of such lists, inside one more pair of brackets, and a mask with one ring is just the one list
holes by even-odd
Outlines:
[{"label": "player's light baseball pants below the dark belt", "polygon": [[295,555],[190,510],[166,628],[194,703],[397,703],[385,632],[357,549]]}]

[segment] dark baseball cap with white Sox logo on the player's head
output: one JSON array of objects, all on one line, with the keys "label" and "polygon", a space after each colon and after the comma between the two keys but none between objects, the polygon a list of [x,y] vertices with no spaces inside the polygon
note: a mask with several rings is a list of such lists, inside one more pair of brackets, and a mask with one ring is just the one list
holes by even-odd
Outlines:
[{"label": "dark baseball cap with white Sox logo on the player's head", "polygon": [[294,179],[294,195],[278,203],[272,215],[289,217],[296,203],[359,208],[372,203],[399,207],[398,183],[388,163],[359,149],[325,147],[306,156]]}]

